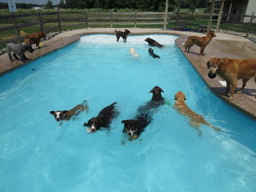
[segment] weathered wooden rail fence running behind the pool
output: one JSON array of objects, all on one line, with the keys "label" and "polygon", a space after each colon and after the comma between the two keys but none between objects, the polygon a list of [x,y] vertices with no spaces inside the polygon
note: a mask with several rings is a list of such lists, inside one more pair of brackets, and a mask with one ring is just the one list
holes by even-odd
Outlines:
[{"label": "weathered wooden rail fence running behind the pool", "polygon": [[[11,15],[0,15],[0,45],[8,42],[19,42],[24,39],[23,36],[20,36],[20,30],[25,27],[31,26],[40,26],[38,30],[44,31],[45,33],[51,32],[53,30],[56,31],[58,29],[61,32],[61,28],[65,26],[71,27],[72,25],[81,25],[81,28],[88,28],[90,26],[95,25],[109,25],[109,27],[113,27],[113,25],[129,25],[137,27],[137,25],[164,25],[164,14],[163,12],[87,12],[86,10],[81,10],[80,12],[65,12],[65,10],[55,12],[45,12],[39,9],[38,13],[31,14],[11,14]],[[224,17],[223,17],[224,16]],[[223,15],[225,18],[227,15]],[[230,15],[232,16],[232,15]],[[255,16],[252,15],[242,15],[243,17],[251,17],[251,23]],[[213,18],[217,17],[218,14],[213,14]],[[180,13],[180,20],[186,20],[187,25],[195,26],[198,28],[199,24],[195,24],[193,22],[189,23],[189,21],[208,21],[209,13],[200,13],[200,14],[189,14],[189,13]],[[173,21],[168,22],[169,21]],[[168,12],[167,14],[167,23],[175,26],[174,20],[176,20],[176,13]],[[212,21],[217,21],[213,19]],[[74,24],[72,24],[72,22]],[[222,22],[227,22],[222,20]],[[2,24],[3,23],[3,24]],[[52,26],[54,23],[56,26]],[[67,24],[68,23],[68,24]],[[250,30],[251,23],[249,24]],[[51,24],[51,25],[48,25]],[[7,26],[4,26],[7,25]],[[202,25],[202,24],[201,24]],[[212,25],[214,27],[214,25]],[[231,28],[233,29],[233,28]],[[239,29],[239,28],[237,28]],[[234,29],[233,29],[234,30]],[[13,32],[13,34],[9,34]],[[34,31],[33,31],[34,32]],[[255,32],[253,32],[255,33]]]}]

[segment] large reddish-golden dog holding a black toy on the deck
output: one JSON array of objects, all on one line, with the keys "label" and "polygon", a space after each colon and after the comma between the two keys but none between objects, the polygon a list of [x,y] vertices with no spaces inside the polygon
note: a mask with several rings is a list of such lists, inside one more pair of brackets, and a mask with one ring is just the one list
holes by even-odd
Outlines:
[{"label": "large reddish-golden dog holding a black toy on the deck", "polygon": [[229,58],[212,58],[207,62],[209,69],[208,76],[213,79],[218,75],[227,83],[226,92],[223,94],[227,96],[230,86],[231,94],[228,100],[234,99],[234,92],[237,87],[237,80],[242,79],[243,85],[239,94],[243,91],[247,81],[254,77],[256,83],[256,59],[229,59]]}]

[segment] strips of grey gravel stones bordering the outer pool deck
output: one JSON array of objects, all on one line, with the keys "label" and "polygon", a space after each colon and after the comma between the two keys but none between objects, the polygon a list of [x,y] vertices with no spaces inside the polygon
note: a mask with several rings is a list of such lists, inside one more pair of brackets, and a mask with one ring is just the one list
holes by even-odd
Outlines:
[{"label": "strips of grey gravel stones bordering the outer pool deck", "polygon": [[[81,29],[83,29],[83,28],[81,28]],[[67,30],[67,31],[73,31],[73,30],[79,30],[79,29],[72,29],[72,30]],[[66,31],[62,31],[62,32],[66,32]],[[236,35],[236,36],[240,36],[240,37],[245,37],[245,35],[246,35],[246,33],[228,31],[228,30],[219,30],[219,32],[220,33],[231,34],[231,35]],[[59,32],[48,33],[48,34],[46,34],[45,40],[41,39],[41,42],[48,41],[48,40],[50,40],[51,38],[53,38],[54,36],[56,36],[58,34],[59,34]],[[254,35],[252,33],[249,33],[247,39],[250,39],[251,41],[256,43],[256,35]],[[5,48],[0,50],[0,55],[3,55],[4,53],[6,53]]]}]

